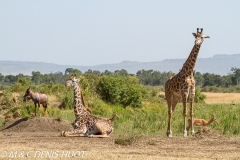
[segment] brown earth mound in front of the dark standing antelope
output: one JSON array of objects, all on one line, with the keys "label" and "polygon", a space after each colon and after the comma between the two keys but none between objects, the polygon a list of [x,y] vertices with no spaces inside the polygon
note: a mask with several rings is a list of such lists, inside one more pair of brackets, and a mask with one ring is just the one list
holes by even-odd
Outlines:
[{"label": "brown earth mound in front of the dark standing antelope", "polygon": [[72,129],[71,123],[48,117],[10,119],[1,128],[2,132],[60,132]]}]

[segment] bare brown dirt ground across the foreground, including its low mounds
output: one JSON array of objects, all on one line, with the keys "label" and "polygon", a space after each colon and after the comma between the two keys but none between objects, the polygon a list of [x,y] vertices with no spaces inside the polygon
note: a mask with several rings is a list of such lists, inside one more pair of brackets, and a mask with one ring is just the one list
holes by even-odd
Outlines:
[{"label": "bare brown dirt ground across the foreground, including its low mounds", "polygon": [[143,136],[123,146],[110,138],[60,137],[69,122],[53,118],[9,120],[0,128],[0,159],[240,159],[240,140],[203,128],[194,137]]}]

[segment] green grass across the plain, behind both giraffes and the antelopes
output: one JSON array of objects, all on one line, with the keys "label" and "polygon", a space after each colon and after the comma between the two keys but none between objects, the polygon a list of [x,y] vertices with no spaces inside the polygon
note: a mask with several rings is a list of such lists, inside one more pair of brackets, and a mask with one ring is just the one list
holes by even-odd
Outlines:
[{"label": "green grass across the plain, behind both giraffes and the antelopes", "polygon": [[[155,96],[157,97],[157,95]],[[92,110],[92,114],[97,117],[110,118],[116,112],[120,118],[113,122],[115,134],[166,136],[168,121],[167,104],[165,100],[156,99],[156,97],[147,97],[143,102],[143,106],[138,108],[108,104],[96,97],[85,97],[85,104]],[[9,109],[9,112],[20,110],[22,117],[30,117],[31,113],[35,111],[32,101],[14,104]],[[189,116],[189,105],[187,113]],[[239,113],[240,104],[194,104],[194,117],[209,120],[214,115],[218,123],[212,123],[210,127],[223,135],[240,136]],[[37,116],[43,116],[43,107],[40,107],[40,111],[37,111]],[[75,120],[73,109],[59,109],[51,103],[48,105],[48,116],[71,122]],[[3,124],[3,120],[0,120],[1,124]],[[182,103],[178,103],[173,113],[172,131],[174,136],[183,135]]]}]

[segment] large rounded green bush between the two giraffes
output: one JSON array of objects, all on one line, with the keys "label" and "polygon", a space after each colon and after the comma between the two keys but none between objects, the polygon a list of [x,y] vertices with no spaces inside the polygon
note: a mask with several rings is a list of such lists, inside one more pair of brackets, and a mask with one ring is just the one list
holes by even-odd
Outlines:
[{"label": "large rounded green bush between the two giraffes", "polygon": [[97,85],[97,93],[103,100],[124,106],[140,107],[145,92],[134,76],[103,76]]}]

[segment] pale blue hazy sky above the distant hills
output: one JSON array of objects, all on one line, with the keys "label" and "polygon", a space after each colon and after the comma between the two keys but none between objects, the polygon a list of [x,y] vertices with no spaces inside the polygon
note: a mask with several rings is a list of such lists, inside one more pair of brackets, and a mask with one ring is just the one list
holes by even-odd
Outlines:
[{"label": "pale blue hazy sky above the distant hills", "polygon": [[0,60],[66,65],[240,53],[240,1],[1,0]]}]

